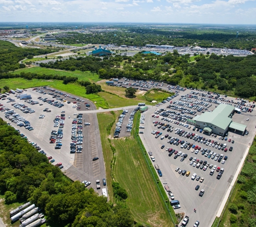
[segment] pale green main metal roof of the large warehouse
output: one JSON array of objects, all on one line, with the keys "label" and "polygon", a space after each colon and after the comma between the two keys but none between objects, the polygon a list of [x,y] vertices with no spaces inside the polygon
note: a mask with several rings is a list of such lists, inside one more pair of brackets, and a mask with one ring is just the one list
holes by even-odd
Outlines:
[{"label": "pale green main metal roof of the large warehouse", "polygon": [[205,112],[199,117],[196,116],[196,119],[193,118],[193,120],[212,124],[225,130],[232,122],[232,119],[229,118],[229,116],[233,110],[234,107],[232,107],[232,105],[220,104],[212,112]]}]

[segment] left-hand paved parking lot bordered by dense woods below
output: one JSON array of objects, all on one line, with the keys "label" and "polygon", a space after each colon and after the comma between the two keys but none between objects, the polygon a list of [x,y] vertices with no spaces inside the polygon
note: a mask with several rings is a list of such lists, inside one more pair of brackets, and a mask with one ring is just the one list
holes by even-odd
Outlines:
[{"label": "left-hand paved parking lot bordered by dense woods below", "polygon": [[[39,93],[39,90],[42,91]],[[54,94],[47,94],[49,92]],[[63,166],[61,170],[68,176],[68,178],[74,181],[91,182],[91,185],[89,185],[88,188],[93,187],[95,191],[101,195],[101,189],[103,188],[102,179],[106,178],[106,173],[100,141],[99,125],[96,113],[87,113],[89,110],[95,110],[95,105],[91,101],[82,100],[71,94],[64,94],[61,93],[61,91],[56,93],[55,91],[50,91],[46,88],[39,88],[37,90],[27,89],[24,93],[31,95],[32,100],[37,103],[31,102],[31,100],[29,102],[19,100],[14,94],[10,94],[5,100],[0,101],[0,103],[3,104],[0,108],[9,108],[15,111],[17,117],[20,120],[24,118],[23,120],[29,122],[29,127],[32,127],[33,129],[25,129],[26,125],[18,126],[15,121],[12,122],[8,118],[5,118],[5,111],[0,112],[0,117],[15,126],[15,128],[18,129],[20,133],[23,133],[31,143],[36,143],[40,150],[43,150],[46,153],[47,157],[52,157],[49,159],[50,161],[53,161],[54,159],[52,165],[61,162],[61,165]],[[56,94],[59,97],[56,96]],[[9,102],[10,98],[12,100],[11,102]],[[44,99],[47,99],[47,101]],[[85,103],[87,103],[87,105]],[[75,108],[73,107],[74,105]],[[29,112],[26,113],[26,110],[23,110],[24,106],[29,108]],[[34,110],[34,112],[30,109]],[[74,120],[78,120],[78,113],[82,113],[81,124],[77,124],[78,122],[74,124]],[[90,124],[84,125],[84,123]],[[23,122],[23,124],[25,123]],[[79,146],[81,146],[82,149],[80,149],[81,153],[71,153],[70,143],[72,142],[71,136],[73,134],[72,126],[75,127],[75,129],[78,129],[78,125],[81,126],[81,130],[79,131],[81,131],[82,134],[80,134],[79,138],[77,130],[75,136],[80,139]],[[52,141],[54,141],[54,139],[56,140],[54,137],[57,137],[57,140],[54,141],[55,143],[50,143],[50,137]],[[58,148],[56,148],[57,143],[60,145]],[[77,148],[77,151],[78,150],[79,149]],[[93,161],[92,159],[95,157],[98,157],[99,159]],[[96,180],[100,180],[100,189],[96,189]]]}]

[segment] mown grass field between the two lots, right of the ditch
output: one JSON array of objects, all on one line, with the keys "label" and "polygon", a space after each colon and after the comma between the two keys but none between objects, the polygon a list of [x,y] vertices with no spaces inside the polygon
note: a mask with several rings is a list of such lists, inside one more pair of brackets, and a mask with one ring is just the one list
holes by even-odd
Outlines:
[{"label": "mown grass field between the two lots, right of the ditch", "polygon": [[112,144],[117,152],[115,178],[127,190],[127,204],[135,221],[150,226],[172,226],[137,140],[120,138]]}]

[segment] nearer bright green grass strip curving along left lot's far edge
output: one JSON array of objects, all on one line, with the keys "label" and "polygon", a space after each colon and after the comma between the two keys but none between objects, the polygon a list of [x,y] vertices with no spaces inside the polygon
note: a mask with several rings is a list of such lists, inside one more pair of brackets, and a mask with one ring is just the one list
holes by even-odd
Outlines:
[{"label": "nearer bright green grass strip curving along left lot's far edge", "polygon": [[26,89],[26,88],[33,88],[33,87],[50,86],[52,88],[66,91],[67,93],[70,93],[73,95],[88,98],[89,100],[96,102],[95,105],[98,108],[99,107],[103,109],[108,108],[108,104],[102,97],[94,94],[86,95],[85,87],[82,87],[76,83],[63,84],[63,82],[59,80],[37,80],[37,79],[25,80],[23,78],[13,78],[13,79],[2,79],[1,86],[2,87],[8,86],[10,89],[13,89],[13,90],[16,90],[16,88]]}]

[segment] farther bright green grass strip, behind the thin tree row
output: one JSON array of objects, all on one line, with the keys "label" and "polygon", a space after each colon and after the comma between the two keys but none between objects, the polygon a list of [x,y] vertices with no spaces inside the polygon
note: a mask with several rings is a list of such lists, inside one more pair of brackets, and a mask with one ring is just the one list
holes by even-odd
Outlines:
[{"label": "farther bright green grass strip, behind the thin tree row", "polygon": [[37,73],[37,74],[45,74],[45,75],[60,75],[60,76],[76,76],[78,80],[90,81],[90,82],[97,82],[100,81],[98,74],[91,73],[89,71],[81,72],[75,70],[74,72],[59,70],[59,69],[50,69],[50,68],[43,68],[43,67],[31,67],[31,68],[24,68],[18,69],[13,74],[19,74],[21,72],[24,73]]}]

